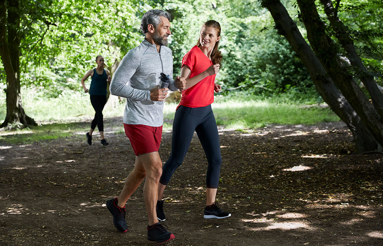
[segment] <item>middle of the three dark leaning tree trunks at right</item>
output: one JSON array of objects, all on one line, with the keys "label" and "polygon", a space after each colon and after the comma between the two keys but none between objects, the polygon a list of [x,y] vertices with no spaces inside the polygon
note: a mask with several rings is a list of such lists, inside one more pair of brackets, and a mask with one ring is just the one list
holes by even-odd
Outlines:
[{"label": "middle of the three dark leaning tree trunks at right", "polygon": [[326,72],[331,77],[350,105],[355,109],[363,125],[374,139],[383,146],[382,118],[359,88],[348,68],[342,66],[336,46],[326,35],[325,25],[319,17],[314,1],[297,0],[301,17],[306,27],[307,38]]}]

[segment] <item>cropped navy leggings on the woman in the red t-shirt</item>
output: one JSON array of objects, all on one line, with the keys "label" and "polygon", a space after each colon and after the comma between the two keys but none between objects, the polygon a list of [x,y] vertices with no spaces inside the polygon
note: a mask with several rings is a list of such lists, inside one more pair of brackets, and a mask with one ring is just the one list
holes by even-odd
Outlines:
[{"label": "cropped navy leggings on the woman in the red t-shirt", "polygon": [[218,188],[222,158],[217,124],[210,105],[206,107],[185,107],[181,105],[175,111],[172,153],[169,160],[162,167],[162,176],[160,178],[162,185],[169,183],[175,170],[182,164],[193,138],[194,130],[208,159],[206,185],[208,188]]}]

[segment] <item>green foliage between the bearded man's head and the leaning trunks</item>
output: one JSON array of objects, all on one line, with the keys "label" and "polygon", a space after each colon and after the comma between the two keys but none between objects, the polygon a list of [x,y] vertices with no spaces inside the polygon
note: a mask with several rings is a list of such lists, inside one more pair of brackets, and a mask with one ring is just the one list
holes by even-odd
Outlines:
[{"label": "green foliage between the bearded man's head and the leaning trunks", "polygon": [[257,2],[222,0],[216,2],[216,8],[203,1],[180,4],[173,0],[162,4],[174,18],[170,48],[175,74],[179,74],[183,55],[197,43],[202,24],[215,19],[221,24],[223,54],[216,79],[223,89],[241,86],[242,90],[264,96],[291,91],[297,96],[303,92],[318,98],[306,68],[287,41],[273,30],[270,14]]}]

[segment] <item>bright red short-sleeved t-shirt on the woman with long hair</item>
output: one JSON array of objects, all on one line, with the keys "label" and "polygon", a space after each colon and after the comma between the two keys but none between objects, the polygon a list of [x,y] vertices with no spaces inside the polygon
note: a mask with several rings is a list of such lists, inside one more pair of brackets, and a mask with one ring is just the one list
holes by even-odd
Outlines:
[{"label": "bright red short-sleeved t-shirt on the woman with long hair", "polygon": [[[198,48],[194,46],[191,50],[185,54],[182,58],[182,66],[188,65],[191,73],[189,78],[202,73],[208,67],[213,65],[210,59]],[[182,91],[182,97],[180,105],[186,107],[205,107],[213,103],[214,101],[214,75],[207,76],[194,86]],[[177,108],[178,108],[177,107]]]}]

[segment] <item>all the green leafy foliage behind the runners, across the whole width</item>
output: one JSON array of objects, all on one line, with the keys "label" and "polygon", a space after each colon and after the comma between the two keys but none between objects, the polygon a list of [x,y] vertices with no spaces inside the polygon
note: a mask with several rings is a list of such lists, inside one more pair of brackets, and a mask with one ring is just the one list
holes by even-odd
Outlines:
[{"label": "all the green leafy foliage behind the runners, across the whole width", "polygon": [[[163,8],[172,15],[169,47],[173,50],[174,76],[180,74],[183,55],[197,43],[202,24],[214,19],[222,28],[223,64],[216,79],[223,86],[223,94],[240,86],[240,90],[260,98],[278,97],[288,103],[321,101],[306,69],[285,38],[273,29],[274,21],[259,1],[20,1],[21,84],[45,99],[44,105],[33,101],[41,107],[54,105],[54,101],[46,99],[50,97],[83,97],[72,91],[82,91],[80,79],[95,66],[95,57],[103,55],[109,68],[120,61],[142,41],[141,17],[151,8]],[[297,12],[294,2],[282,1],[292,14]],[[378,77],[383,66],[383,19],[378,18],[383,14],[381,5],[377,0],[347,0],[339,6],[339,17],[351,28],[350,35],[363,61]],[[293,18],[297,20],[297,15]],[[297,24],[302,25],[299,21]],[[304,35],[304,30],[301,32]],[[1,83],[0,89],[5,89],[5,73],[0,64]],[[86,83],[90,83],[89,79]],[[27,97],[26,93],[23,97]],[[25,105],[31,109],[30,102]],[[36,119],[47,119],[43,112],[32,111]],[[80,114],[80,109],[74,111],[73,115]],[[67,116],[63,109],[54,117]]]}]

